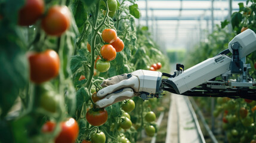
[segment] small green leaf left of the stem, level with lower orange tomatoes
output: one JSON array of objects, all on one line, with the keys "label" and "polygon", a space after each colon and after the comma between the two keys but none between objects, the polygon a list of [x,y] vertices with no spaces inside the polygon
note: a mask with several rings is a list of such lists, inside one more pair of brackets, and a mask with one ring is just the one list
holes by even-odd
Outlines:
[{"label": "small green leaf left of the stem, level with lower orange tomatoes", "polygon": [[70,61],[70,69],[72,73],[75,73],[76,70],[78,70],[80,67],[83,66],[83,64],[87,63],[87,57],[82,56],[82,55],[74,55],[71,58]]}]

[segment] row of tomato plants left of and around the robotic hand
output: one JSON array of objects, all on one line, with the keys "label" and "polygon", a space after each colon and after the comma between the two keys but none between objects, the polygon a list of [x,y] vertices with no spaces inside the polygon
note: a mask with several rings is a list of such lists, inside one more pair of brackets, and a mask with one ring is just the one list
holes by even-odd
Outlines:
[{"label": "row of tomato plants left of and around the robotic hand", "polygon": [[[101,82],[169,71],[135,0],[0,1],[0,142],[136,142],[158,99],[97,108]],[[157,63],[157,64],[156,64]]]}]

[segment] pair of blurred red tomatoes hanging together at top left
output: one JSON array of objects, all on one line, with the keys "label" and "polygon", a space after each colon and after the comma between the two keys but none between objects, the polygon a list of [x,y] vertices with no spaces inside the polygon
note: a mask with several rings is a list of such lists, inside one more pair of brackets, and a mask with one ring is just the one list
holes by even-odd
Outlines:
[{"label": "pair of blurred red tomatoes hanging together at top left", "polygon": [[27,0],[18,13],[18,24],[29,26],[41,19],[41,27],[51,36],[62,35],[70,26],[70,11],[66,6],[54,5],[44,15],[44,0]]}]

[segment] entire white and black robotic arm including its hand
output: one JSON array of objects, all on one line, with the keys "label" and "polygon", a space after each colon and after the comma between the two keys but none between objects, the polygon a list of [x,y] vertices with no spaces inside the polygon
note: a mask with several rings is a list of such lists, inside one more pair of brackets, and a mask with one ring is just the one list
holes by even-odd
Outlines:
[{"label": "entire white and black robotic arm including its hand", "polygon": [[[229,49],[183,71],[177,64],[173,75],[159,71],[137,70],[129,74],[114,76],[103,81],[105,87],[97,96],[97,107],[107,107],[122,100],[139,96],[143,100],[161,96],[162,91],[197,97],[230,97],[256,100],[256,83],[249,76],[250,64],[246,55],[256,50],[256,35],[247,29],[235,36]],[[232,57],[227,54],[232,53]],[[236,75],[236,79],[231,79]],[[162,76],[169,77],[162,79]],[[220,80],[214,80],[221,76]]]}]

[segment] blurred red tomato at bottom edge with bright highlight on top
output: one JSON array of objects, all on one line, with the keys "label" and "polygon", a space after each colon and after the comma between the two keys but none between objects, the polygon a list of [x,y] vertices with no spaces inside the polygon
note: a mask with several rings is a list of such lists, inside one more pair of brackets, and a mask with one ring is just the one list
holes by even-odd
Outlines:
[{"label": "blurred red tomato at bottom edge with bright highlight on top", "polygon": [[78,123],[75,119],[70,118],[66,122],[61,122],[61,131],[55,139],[55,143],[75,143],[78,133]]}]

